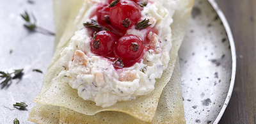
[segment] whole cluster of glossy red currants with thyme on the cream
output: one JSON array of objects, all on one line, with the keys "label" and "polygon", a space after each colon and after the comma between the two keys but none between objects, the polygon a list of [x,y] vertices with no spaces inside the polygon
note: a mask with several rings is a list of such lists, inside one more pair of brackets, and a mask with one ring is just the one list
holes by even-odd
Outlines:
[{"label": "whole cluster of glossy red currants with thyme on the cream", "polygon": [[143,41],[136,35],[125,35],[127,29],[145,29],[149,20],[141,19],[141,10],[147,3],[141,0],[108,0],[99,3],[97,20],[84,23],[93,33],[91,50],[94,54],[113,61],[116,68],[129,67],[140,61],[145,53]]}]

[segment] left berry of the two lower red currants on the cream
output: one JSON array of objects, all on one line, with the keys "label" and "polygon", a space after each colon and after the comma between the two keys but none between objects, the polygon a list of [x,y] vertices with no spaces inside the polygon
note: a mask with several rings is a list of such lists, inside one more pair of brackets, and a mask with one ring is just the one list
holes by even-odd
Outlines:
[{"label": "left berry of the two lower red currants on the cream", "polygon": [[94,35],[90,42],[91,51],[101,56],[109,56],[118,40],[116,36],[110,31],[99,31]]}]

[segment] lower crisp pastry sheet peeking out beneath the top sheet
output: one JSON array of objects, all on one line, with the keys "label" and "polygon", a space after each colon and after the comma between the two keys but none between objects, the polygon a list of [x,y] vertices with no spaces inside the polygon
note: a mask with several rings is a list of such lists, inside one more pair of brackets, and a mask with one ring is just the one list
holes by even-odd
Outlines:
[{"label": "lower crisp pastry sheet peeking out beneath the top sheet", "polygon": [[[173,97],[175,96],[175,97]],[[59,112],[60,110],[60,112]],[[58,118],[60,116],[60,120]],[[147,123],[129,114],[115,111],[99,112],[88,116],[65,107],[38,104],[33,107],[29,120],[36,123]],[[179,61],[173,75],[159,98],[156,114],[151,123],[185,123],[182,104]]]}]

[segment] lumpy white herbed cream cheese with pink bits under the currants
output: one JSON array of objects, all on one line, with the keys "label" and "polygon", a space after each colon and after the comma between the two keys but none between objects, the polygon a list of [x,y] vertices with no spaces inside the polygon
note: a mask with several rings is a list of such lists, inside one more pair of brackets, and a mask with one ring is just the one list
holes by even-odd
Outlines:
[{"label": "lumpy white herbed cream cheese with pink bits under the currants", "polygon": [[[91,8],[96,8],[100,2],[104,1],[86,1],[87,4],[92,4]],[[116,69],[107,58],[91,52],[92,36],[83,27],[76,31],[68,47],[61,52],[60,66],[63,70],[58,78],[77,89],[79,97],[92,100],[101,107],[109,107],[118,101],[132,100],[152,92],[156,79],[161,77],[170,60],[170,25],[177,3],[178,0],[149,0],[141,11],[141,20],[149,19],[158,34],[152,31],[147,33],[145,30],[127,30],[127,34],[136,35],[141,40],[147,36],[150,40],[149,47],[154,48],[149,49],[139,63]],[[95,9],[88,10],[84,15],[90,15]],[[86,21],[90,21],[89,17]]]}]

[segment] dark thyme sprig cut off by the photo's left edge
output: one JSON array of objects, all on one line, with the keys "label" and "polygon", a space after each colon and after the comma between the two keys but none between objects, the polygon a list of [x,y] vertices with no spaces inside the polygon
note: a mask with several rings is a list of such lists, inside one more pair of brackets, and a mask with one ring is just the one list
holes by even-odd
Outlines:
[{"label": "dark thyme sprig cut off by the photo's left edge", "polygon": [[[22,70],[23,69],[20,69],[20,70],[14,70],[14,72],[12,73],[5,73],[5,72],[1,72],[0,71],[0,77],[2,78],[5,78],[3,82],[1,82],[0,84],[4,84],[6,85],[11,79],[16,79],[17,77],[19,77],[21,74],[22,74]],[[12,74],[14,74],[14,76],[12,77]]]}]

